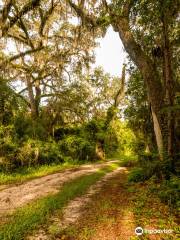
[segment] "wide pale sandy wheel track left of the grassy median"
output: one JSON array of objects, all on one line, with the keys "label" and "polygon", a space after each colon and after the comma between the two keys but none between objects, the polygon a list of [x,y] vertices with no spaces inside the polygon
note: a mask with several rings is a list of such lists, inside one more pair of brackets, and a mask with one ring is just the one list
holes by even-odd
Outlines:
[{"label": "wide pale sandy wheel track left of the grassy median", "polygon": [[47,196],[50,193],[57,193],[61,186],[76,177],[96,172],[98,169],[108,166],[116,161],[109,161],[103,164],[83,165],[79,168],[65,170],[60,173],[50,174],[37,178],[18,186],[11,186],[0,191],[0,218],[12,213],[18,207],[29,203],[32,200]]}]

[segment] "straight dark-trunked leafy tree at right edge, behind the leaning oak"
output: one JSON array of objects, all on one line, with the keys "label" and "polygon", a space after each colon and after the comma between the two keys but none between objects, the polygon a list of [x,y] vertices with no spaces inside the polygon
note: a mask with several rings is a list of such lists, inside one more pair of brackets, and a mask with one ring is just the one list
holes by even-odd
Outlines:
[{"label": "straight dark-trunked leafy tree at right edge, behind the leaning oak", "polygon": [[178,69],[175,67],[177,52],[174,51],[177,39],[175,33],[178,29],[178,1],[151,1],[148,4],[149,2],[144,1],[134,6],[131,25],[136,26],[134,36],[146,54],[151,57],[161,79],[164,152],[173,159],[178,152],[174,124],[178,92],[176,88]]}]

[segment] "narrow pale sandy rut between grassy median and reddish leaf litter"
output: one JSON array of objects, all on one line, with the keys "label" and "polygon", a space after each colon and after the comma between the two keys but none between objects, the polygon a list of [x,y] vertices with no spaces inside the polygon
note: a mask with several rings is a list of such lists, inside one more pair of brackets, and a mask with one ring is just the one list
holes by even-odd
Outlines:
[{"label": "narrow pale sandy rut between grassy median and reddish leaf litter", "polygon": [[[86,215],[88,206],[91,206],[93,198],[101,192],[104,185],[111,181],[114,176],[120,172],[126,171],[126,168],[119,167],[113,172],[107,173],[96,184],[92,185],[89,190],[81,197],[77,197],[70,201],[63,212],[56,212],[54,216],[41,229],[37,230],[34,235],[27,239],[76,239],[78,237],[73,229],[78,226],[78,219]],[[81,220],[80,220],[81,221]],[[71,234],[65,234],[70,231]]]}]

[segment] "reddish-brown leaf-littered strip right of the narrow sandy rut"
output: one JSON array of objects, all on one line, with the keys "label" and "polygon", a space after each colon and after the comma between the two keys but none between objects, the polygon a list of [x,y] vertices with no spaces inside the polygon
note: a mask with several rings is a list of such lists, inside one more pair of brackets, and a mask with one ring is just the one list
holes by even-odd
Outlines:
[{"label": "reddish-brown leaf-littered strip right of the narrow sandy rut", "polygon": [[[129,240],[134,236],[134,215],[126,190],[127,170],[107,181],[86,206],[72,239]],[[69,238],[70,239],[70,238]]]}]

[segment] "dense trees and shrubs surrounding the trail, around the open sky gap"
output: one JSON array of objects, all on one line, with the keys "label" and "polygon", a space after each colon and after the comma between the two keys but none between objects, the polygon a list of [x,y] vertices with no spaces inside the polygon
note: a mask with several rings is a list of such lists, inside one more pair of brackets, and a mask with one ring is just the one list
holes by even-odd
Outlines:
[{"label": "dense trees and shrubs surrounding the trail, around the open sky gap", "polygon": [[[177,0],[0,1],[0,171],[133,153],[130,181],[155,176],[176,202],[178,10]],[[93,66],[109,26],[129,54],[121,77]]]}]

